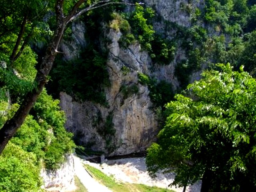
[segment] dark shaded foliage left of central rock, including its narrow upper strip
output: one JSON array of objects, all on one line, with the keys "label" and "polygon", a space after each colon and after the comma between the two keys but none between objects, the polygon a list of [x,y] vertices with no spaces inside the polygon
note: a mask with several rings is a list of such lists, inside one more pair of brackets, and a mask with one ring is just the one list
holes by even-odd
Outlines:
[{"label": "dark shaded foliage left of central rock, including its narrow upper strip", "polygon": [[[86,47],[82,48],[78,58],[71,61],[65,61],[62,56],[56,58],[50,73],[52,81],[47,87],[54,97],[57,98],[60,91],[65,91],[77,101],[89,100],[108,107],[104,92],[104,88],[110,86],[107,50],[99,45],[108,43],[102,33],[101,22],[110,23],[113,10],[112,6],[107,6],[83,16],[86,28],[90,29],[84,34]],[[67,32],[70,33],[70,30]]]}]

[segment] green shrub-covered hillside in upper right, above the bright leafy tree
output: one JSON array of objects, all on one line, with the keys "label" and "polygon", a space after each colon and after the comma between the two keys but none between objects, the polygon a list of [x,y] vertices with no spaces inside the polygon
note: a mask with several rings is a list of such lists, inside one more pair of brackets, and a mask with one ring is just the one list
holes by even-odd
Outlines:
[{"label": "green shrub-covered hillside in upper right, above the bright leafy tree", "polygon": [[254,74],[250,36],[255,30],[255,6],[246,0],[206,0],[205,3],[204,9],[196,8],[192,13],[189,28],[168,26],[168,30],[177,31],[177,44],[186,52],[186,58],[177,60],[175,68],[181,88],[186,88],[192,72],[210,63],[231,62],[236,69],[243,64],[246,71]]}]

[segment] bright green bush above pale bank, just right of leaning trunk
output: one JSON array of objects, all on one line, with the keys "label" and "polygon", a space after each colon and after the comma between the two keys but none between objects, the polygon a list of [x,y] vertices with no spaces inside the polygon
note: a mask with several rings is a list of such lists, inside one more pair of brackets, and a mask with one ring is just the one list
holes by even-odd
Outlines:
[{"label": "bright green bush above pale bank, just right of leaning trunk", "polygon": [[59,100],[53,100],[44,90],[34,105],[32,113],[41,126],[40,134],[44,136],[46,168],[58,168],[65,160],[64,155],[72,153],[75,147],[71,139],[72,134],[65,130],[66,119],[64,112],[60,111]]}]

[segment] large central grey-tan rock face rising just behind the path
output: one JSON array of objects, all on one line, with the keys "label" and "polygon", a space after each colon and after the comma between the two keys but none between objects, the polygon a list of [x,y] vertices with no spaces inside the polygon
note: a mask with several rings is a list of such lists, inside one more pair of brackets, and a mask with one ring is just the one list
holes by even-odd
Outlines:
[{"label": "large central grey-tan rock face rising just behind the path", "polygon": [[[139,44],[127,49],[120,48],[120,35],[112,30],[108,34],[112,39],[108,47],[107,62],[111,86],[105,90],[109,107],[92,102],[78,103],[66,93],[60,94],[60,105],[67,116],[66,128],[74,133],[78,143],[90,146],[92,150],[111,152],[112,155],[144,151],[155,138],[157,131],[156,115],[150,109],[152,103],[148,96],[148,87],[138,83],[138,72],[149,72],[150,57],[140,50]],[[124,67],[128,71],[122,71]],[[124,96],[121,91],[124,86],[136,87],[138,93]],[[104,129],[110,114],[116,132],[108,135],[111,137],[109,144],[99,129]],[[114,151],[109,150],[110,146]]]}]

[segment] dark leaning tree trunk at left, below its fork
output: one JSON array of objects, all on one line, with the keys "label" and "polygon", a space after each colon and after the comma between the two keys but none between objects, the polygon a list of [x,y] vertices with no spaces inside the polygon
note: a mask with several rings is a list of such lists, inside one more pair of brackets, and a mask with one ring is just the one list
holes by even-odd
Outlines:
[{"label": "dark leaning tree trunk at left, below its fork", "polygon": [[46,49],[44,57],[42,58],[42,62],[40,63],[40,68],[36,74],[34,81],[35,87],[26,94],[18,111],[0,129],[0,154],[2,154],[2,151],[4,150],[8,141],[14,136],[18,128],[20,128],[24,122],[26,116],[30,112],[31,108],[36,102],[36,99],[42,92],[44,85],[47,82],[47,76],[52,68],[54,59],[56,57],[56,50],[66,27],[66,24],[63,20],[58,20],[57,23],[59,24],[58,28],[52,37],[51,43]]}]

